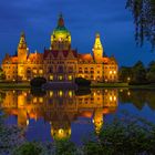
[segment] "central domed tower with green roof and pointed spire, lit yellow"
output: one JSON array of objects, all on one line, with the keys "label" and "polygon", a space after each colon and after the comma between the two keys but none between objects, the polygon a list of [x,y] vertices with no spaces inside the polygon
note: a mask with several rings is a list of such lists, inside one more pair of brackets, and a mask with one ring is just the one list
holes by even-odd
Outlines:
[{"label": "central domed tower with green roof and pointed spire, lit yellow", "polygon": [[71,34],[64,27],[62,14],[60,14],[58,27],[54,29],[51,35],[51,49],[56,51],[71,49]]}]

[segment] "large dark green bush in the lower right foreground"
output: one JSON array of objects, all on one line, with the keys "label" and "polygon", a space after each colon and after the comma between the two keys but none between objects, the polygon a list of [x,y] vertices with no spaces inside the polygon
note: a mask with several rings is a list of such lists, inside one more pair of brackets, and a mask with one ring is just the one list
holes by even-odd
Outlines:
[{"label": "large dark green bush in the lower right foreground", "polygon": [[116,117],[105,124],[96,141],[87,141],[84,154],[155,154],[155,125],[144,118],[124,114],[122,120]]}]

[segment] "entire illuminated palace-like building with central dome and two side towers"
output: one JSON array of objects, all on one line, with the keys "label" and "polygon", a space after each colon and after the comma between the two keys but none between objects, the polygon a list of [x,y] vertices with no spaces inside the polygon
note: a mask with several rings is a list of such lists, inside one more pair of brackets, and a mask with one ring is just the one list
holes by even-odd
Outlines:
[{"label": "entire illuminated palace-like building with central dome and two side towers", "polygon": [[60,16],[51,35],[50,49],[30,53],[24,33],[21,34],[16,55],[6,54],[2,70],[7,81],[30,81],[43,76],[48,81],[73,82],[85,78],[94,82],[116,82],[118,65],[114,56],[103,56],[100,34],[96,34],[93,53],[81,54],[71,48],[71,33]]}]

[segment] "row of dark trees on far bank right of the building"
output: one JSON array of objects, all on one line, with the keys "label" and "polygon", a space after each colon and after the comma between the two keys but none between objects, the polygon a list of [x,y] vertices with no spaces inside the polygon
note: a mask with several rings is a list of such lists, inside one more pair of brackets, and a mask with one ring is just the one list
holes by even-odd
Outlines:
[{"label": "row of dark trees on far bank right of the building", "polygon": [[118,74],[121,82],[131,84],[155,83],[155,61],[149,62],[146,68],[142,61],[136,62],[133,66],[122,66]]}]

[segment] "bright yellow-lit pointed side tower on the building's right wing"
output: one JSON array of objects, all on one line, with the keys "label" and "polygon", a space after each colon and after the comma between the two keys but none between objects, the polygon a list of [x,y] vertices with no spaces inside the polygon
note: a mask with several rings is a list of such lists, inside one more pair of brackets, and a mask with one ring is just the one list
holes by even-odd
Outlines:
[{"label": "bright yellow-lit pointed side tower on the building's right wing", "polygon": [[95,43],[93,46],[93,58],[94,61],[96,63],[101,63],[102,62],[102,56],[103,56],[103,46],[100,40],[100,34],[96,33],[96,38],[95,38]]}]

